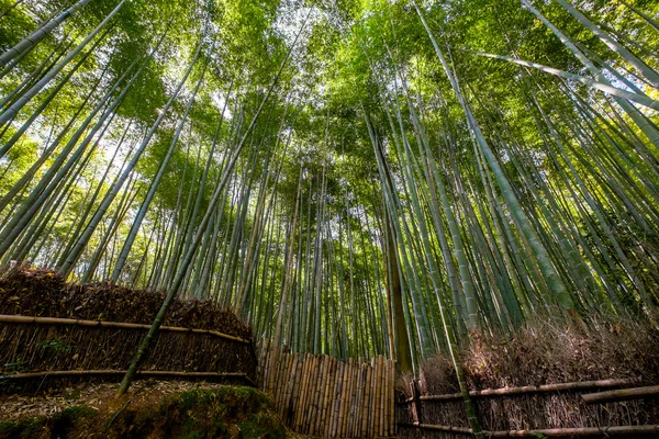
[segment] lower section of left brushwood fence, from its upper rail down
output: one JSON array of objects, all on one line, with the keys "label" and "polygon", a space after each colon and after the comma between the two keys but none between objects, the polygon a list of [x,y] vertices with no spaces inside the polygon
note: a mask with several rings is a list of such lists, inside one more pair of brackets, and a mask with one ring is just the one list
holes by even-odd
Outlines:
[{"label": "lower section of left brushwood fence, from its upper rail down", "polygon": [[[60,317],[0,315],[0,384],[48,379],[121,376],[149,325]],[[161,326],[139,374],[255,385],[252,341],[217,330]],[[0,386],[0,392],[11,390]]]}]

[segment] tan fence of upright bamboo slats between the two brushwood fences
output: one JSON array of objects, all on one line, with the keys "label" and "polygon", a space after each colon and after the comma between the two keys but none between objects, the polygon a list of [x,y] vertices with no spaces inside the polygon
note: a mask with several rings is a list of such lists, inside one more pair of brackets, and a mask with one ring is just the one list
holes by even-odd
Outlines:
[{"label": "tan fence of upright bamboo slats between the two brushwood fences", "polygon": [[395,363],[290,353],[266,341],[258,385],[297,432],[328,438],[395,436]]}]

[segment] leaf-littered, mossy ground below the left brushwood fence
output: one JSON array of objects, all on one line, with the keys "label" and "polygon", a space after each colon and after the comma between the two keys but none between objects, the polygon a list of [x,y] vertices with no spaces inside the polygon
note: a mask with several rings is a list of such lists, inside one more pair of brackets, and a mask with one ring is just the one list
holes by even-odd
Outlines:
[{"label": "leaf-littered, mossy ground below the left brushwood fence", "polygon": [[79,383],[0,395],[0,439],[286,437],[269,398],[252,387],[205,382]]}]

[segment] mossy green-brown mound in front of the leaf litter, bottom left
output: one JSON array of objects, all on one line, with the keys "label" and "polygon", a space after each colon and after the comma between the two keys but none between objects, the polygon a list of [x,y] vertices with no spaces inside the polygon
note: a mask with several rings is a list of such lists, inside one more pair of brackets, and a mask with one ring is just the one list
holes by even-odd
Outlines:
[{"label": "mossy green-brown mound in front of the leaf litter, bottom left", "polygon": [[192,389],[157,398],[81,402],[55,415],[0,423],[0,439],[206,439],[286,437],[268,396],[252,387]]}]

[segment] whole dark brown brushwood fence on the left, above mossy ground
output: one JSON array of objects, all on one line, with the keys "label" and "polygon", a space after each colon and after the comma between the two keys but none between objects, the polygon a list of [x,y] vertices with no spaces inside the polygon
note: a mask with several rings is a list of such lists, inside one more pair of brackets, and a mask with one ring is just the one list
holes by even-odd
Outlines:
[{"label": "whole dark brown brushwood fence on the left, above mossy ground", "polygon": [[[163,293],[133,291],[108,283],[67,284],[57,274],[43,270],[16,270],[0,278],[0,315],[150,325],[163,299]],[[242,372],[256,379],[250,329],[233,313],[209,302],[176,300],[164,325],[222,333],[248,342],[212,334],[160,330],[143,362],[143,370]],[[0,375],[125,370],[145,335],[144,328],[0,322]],[[53,380],[20,382],[48,385]],[[24,387],[18,382],[18,379],[2,380],[0,389]]]}]

